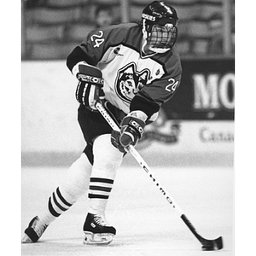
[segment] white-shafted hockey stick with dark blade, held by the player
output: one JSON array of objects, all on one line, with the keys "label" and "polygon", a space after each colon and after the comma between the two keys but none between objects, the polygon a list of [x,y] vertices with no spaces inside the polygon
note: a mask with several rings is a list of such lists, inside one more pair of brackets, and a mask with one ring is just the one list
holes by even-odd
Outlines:
[{"label": "white-shafted hockey stick with dark blade, held by the player", "polygon": [[[102,114],[103,118],[106,119],[108,122],[108,125],[110,125],[113,130],[120,131],[119,126],[116,125],[116,123],[113,121],[112,117],[108,114],[107,110],[102,106],[102,103],[97,102],[96,108],[98,111]],[[191,222],[189,221],[189,218],[186,217],[184,212],[180,207],[178,207],[176,201],[172,198],[172,196],[167,192],[166,189],[163,188],[162,185],[160,185],[159,181],[156,177],[154,177],[153,172],[151,172],[149,166],[147,163],[143,160],[140,154],[138,154],[137,150],[133,146],[127,147],[128,151],[132,154],[132,156],[137,160],[138,164],[143,168],[145,172],[148,173],[148,176],[152,179],[152,181],[155,183],[155,185],[160,189],[161,195],[164,195],[166,197],[166,200],[169,202],[169,204],[176,210],[179,217],[182,218],[183,222],[188,226],[189,230],[194,234],[194,236],[201,242],[202,250],[203,251],[214,251],[214,250],[220,250],[223,248],[223,239],[222,236],[219,236],[217,239],[214,240],[208,240],[202,236],[200,236],[197,231],[195,230],[195,227]]]}]

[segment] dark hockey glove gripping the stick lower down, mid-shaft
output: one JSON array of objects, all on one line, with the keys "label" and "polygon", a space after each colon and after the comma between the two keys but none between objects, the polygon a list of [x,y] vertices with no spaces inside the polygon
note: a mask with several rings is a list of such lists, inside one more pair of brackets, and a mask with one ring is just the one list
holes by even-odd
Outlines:
[{"label": "dark hockey glove gripping the stick lower down, mid-shaft", "polygon": [[128,146],[135,146],[143,136],[145,122],[134,116],[126,116],[121,123],[121,131],[112,131],[111,143],[121,152],[126,152]]}]

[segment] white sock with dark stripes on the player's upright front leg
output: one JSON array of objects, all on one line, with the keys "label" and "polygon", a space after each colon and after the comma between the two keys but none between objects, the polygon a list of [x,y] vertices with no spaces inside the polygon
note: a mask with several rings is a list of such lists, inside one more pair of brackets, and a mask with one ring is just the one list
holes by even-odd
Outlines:
[{"label": "white sock with dark stripes on the player's upright front leg", "polygon": [[103,214],[113,188],[123,154],[110,142],[110,134],[97,137],[93,144],[94,163],[90,177],[90,213]]}]

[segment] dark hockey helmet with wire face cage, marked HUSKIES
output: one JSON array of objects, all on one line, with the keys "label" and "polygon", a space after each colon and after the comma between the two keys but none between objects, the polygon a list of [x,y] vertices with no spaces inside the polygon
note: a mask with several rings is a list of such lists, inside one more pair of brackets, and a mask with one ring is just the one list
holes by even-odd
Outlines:
[{"label": "dark hockey helmet with wire face cage, marked HUSKIES", "polygon": [[177,12],[163,1],[154,1],[143,9],[143,38],[148,49],[164,53],[172,49],[177,39]]}]

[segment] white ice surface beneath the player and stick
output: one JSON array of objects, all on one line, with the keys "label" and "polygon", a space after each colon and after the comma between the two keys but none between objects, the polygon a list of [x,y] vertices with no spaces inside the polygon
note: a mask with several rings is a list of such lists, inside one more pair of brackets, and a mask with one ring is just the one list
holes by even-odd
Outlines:
[{"label": "white ice surface beneath the player and stick", "polygon": [[[47,206],[67,168],[22,168],[21,236],[27,224]],[[231,167],[152,167],[201,236],[224,238],[224,249],[203,252],[201,244],[160,194],[147,173],[121,167],[108,201],[107,218],[117,229],[108,246],[84,246],[86,195],[49,225],[38,243],[22,244],[21,255],[47,256],[231,256],[233,250],[233,187]],[[21,239],[21,237],[20,237]]]}]

